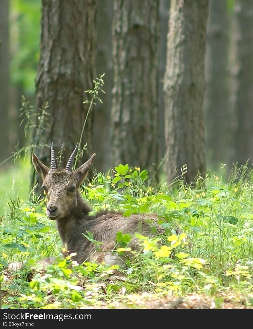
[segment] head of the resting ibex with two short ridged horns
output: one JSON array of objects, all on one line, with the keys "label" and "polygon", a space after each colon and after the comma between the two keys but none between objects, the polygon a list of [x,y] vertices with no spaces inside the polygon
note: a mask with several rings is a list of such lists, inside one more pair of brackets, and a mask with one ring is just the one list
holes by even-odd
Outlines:
[{"label": "head of the resting ibex with two short ridged horns", "polygon": [[85,164],[72,171],[72,166],[78,144],[71,154],[65,169],[57,169],[53,143],[51,146],[50,168],[39,161],[33,154],[32,160],[36,171],[40,174],[43,184],[42,188],[47,195],[46,214],[50,219],[59,219],[68,216],[76,207],[80,197],[79,187],[85,180],[96,154],[94,153]]}]

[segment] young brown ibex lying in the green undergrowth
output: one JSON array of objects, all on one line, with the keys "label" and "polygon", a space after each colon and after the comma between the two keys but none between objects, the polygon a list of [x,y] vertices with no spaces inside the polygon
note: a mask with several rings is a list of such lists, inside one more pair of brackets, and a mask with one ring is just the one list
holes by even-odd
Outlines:
[{"label": "young brown ibex lying in the green undergrowth", "polygon": [[[57,228],[63,247],[68,253],[77,253],[72,260],[79,264],[84,261],[95,261],[108,265],[123,266],[126,256],[118,256],[114,253],[116,233],[121,231],[130,233],[133,238],[130,242],[132,249],[138,248],[138,239],[135,233],[151,236],[150,220],[158,233],[163,233],[161,226],[157,224],[156,215],[131,215],[123,217],[121,213],[103,211],[95,216],[90,216],[90,207],[80,194],[79,187],[84,182],[89,168],[96,154],[76,170],[72,171],[73,161],[78,145],[71,154],[66,167],[57,169],[53,143],[51,146],[50,168],[41,163],[33,154],[32,160],[36,171],[43,180],[42,187],[47,195],[46,215],[56,220]],[[93,234],[94,240],[101,242],[101,251],[96,252],[94,243],[86,239],[87,231]]]}]

